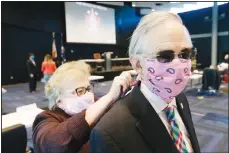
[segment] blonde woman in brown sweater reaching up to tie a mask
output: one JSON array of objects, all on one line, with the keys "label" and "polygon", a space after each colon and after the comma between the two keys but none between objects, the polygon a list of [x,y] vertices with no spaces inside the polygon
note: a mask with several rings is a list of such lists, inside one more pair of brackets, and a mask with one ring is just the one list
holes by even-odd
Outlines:
[{"label": "blonde woman in brown sweater reaching up to tie a mask", "polygon": [[33,123],[36,153],[76,153],[89,140],[92,127],[118,100],[121,90],[131,83],[131,72],[115,77],[108,94],[94,103],[88,77],[90,67],[84,62],[61,65],[45,86],[50,111],[40,113]]}]

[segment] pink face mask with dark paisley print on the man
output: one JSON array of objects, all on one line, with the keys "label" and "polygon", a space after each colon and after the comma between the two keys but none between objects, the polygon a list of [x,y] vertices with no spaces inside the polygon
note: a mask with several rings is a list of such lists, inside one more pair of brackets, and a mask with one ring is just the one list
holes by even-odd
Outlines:
[{"label": "pink face mask with dark paisley print on the man", "polygon": [[150,91],[170,103],[180,94],[191,75],[191,60],[175,58],[169,63],[157,59],[145,59],[146,72],[142,82]]}]

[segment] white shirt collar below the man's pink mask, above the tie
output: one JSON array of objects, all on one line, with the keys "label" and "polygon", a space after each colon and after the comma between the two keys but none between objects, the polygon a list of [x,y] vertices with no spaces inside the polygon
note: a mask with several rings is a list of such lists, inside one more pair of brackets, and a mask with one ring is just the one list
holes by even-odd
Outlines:
[{"label": "white shirt collar below the man's pink mask, above the tie", "polygon": [[176,99],[174,98],[171,103],[167,104],[164,100],[162,100],[159,96],[152,93],[144,83],[141,83],[140,90],[146,99],[149,101],[151,106],[155,109],[157,114],[162,112],[167,106],[175,106],[176,107]]}]

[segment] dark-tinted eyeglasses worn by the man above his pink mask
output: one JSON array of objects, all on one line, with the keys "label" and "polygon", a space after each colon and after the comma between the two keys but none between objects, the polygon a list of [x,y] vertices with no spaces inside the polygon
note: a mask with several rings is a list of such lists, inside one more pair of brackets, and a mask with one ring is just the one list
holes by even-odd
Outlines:
[{"label": "dark-tinted eyeglasses worn by the man above his pink mask", "polygon": [[156,56],[146,56],[147,58],[156,58],[160,63],[169,63],[171,62],[176,55],[179,59],[189,60],[195,56],[194,48],[185,48],[179,54],[175,53],[173,50],[164,50],[157,53]]}]

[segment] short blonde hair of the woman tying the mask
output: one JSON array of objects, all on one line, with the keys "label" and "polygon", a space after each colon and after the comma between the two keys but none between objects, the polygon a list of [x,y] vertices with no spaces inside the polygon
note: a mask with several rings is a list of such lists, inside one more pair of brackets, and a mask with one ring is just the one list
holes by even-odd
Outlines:
[{"label": "short blonde hair of the woman tying the mask", "polygon": [[88,79],[90,66],[83,61],[72,61],[61,65],[45,86],[45,95],[49,99],[51,110],[56,101],[61,99],[65,90],[74,88],[76,80]]}]

